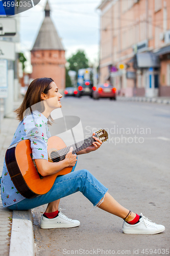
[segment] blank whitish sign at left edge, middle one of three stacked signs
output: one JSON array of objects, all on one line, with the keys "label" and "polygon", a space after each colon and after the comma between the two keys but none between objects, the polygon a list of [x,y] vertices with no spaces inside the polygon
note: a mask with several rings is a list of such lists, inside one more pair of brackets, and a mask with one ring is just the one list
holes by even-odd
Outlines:
[{"label": "blank whitish sign at left edge, middle one of three stacked signs", "polygon": [[15,43],[0,41],[0,59],[15,60]]}]

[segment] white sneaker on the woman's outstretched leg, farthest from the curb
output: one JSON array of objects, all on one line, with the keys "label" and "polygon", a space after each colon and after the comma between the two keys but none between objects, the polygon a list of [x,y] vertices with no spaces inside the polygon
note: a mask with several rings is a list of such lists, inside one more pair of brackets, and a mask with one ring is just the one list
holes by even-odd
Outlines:
[{"label": "white sneaker on the woman's outstretched leg, farthest from the curb", "polygon": [[165,230],[163,225],[157,225],[140,214],[141,218],[137,224],[131,225],[124,221],[123,233],[126,234],[157,234]]}]

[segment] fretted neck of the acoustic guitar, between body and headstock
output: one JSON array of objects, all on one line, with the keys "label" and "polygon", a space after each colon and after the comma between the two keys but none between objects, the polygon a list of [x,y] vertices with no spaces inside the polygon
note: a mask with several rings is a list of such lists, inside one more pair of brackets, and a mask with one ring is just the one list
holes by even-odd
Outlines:
[{"label": "fretted neck of the acoustic guitar, between body and headstock", "polygon": [[[98,136],[95,134],[94,137],[97,138]],[[92,142],[94,142],[94,141],[95,141],[95,139],[91,136],[91,137],[81,140],[75,144],[64,147],[61,150],[58,150],[57,153],[59,154],[60,159],[63,160],[65,158],[65,155],[69,152],[71,146],[73,147],[72,154],[76,154],[77,152],[84,150],[86,147],[91,146]]]}]

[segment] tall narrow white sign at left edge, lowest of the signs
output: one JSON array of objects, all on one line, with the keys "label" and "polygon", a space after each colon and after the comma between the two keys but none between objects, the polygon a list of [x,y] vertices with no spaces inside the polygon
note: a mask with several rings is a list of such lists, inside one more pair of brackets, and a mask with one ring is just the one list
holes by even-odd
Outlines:
[{"label": "tall narrow white sign at left edge, lowest of the signs", "polygon": [[7,60],[0,59],[0,98],[8,96],[8,67]]}]

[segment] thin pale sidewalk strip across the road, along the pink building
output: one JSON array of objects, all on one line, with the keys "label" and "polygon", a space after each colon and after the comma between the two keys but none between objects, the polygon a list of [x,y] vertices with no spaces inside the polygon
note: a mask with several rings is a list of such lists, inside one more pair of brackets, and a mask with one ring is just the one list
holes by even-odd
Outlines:
[{"label": "thin pale sidewalk strip across the road, along the pink building", "polygon": [[170,104],[170,97],[124,97],[124,96],[117,96],[118,100],[125,100],[125,101],[140,101],[140,102],[151,102],[151,103],[161,103],[161,104]]}]

